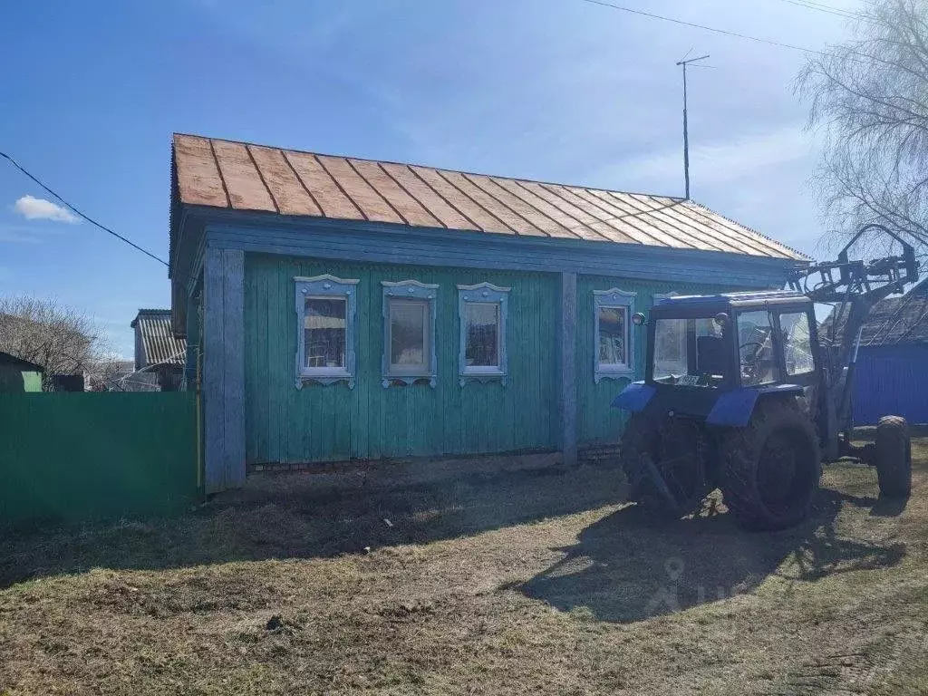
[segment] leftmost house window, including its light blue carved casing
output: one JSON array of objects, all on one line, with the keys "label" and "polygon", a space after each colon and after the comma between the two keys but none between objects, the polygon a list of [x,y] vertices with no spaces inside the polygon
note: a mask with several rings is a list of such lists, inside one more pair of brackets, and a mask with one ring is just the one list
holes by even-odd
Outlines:
[{"label": "leftmost house window, including its light blue carved casing", "polygon": [[296,387],[347,381],[354,388],[354,302],[357,280],[296,277]]}]

